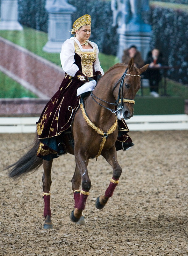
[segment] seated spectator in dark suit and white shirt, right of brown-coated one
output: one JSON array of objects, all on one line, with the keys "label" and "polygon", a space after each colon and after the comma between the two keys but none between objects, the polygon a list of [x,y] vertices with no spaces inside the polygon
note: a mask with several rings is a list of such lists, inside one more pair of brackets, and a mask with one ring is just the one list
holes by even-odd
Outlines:
[{"label": "seated spectator in dark suit and white shirt, right of brown-coated one", "polygon": [[159,97],[159,82],[161,81],[160,67],[164,64],[163,57],[159,49],[154,48],[148,52],[145,64],[149,64],[146,72],[143,73],[143,78],[149,80],[150,95]]}]

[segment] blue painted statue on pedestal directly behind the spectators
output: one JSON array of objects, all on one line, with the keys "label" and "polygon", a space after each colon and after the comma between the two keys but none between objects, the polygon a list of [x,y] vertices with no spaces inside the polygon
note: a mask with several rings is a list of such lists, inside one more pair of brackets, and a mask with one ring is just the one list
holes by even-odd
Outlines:
[{"label": "blue painted statue on pedestal directly behind the spectators", "polygon": [[118,25],[119,49],[117,57],[122,61],[123,51],[135,45],[145,60],[151,40],[151,26],[145,24],[141,12],[148,11],[148,0],[111,0],[113,26]]}]

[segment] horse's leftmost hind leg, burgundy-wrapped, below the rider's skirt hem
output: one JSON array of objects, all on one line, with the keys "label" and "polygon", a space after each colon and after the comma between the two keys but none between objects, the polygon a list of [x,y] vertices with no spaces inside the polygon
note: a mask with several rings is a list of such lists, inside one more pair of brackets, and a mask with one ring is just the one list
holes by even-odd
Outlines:
[{"label": "horse's leftmost hind leg, burgundy-wrapped, below the rider's skirt hem", "polygon": [[43,160],[44,173],[42,176],[42,188],[43,188],[43,198],[44,198],[44,228],[52,228],[51,221],[51,209],[50,209],[50,186],[51,180],[51,169],[52,169],[53,159],[50,161]]}]

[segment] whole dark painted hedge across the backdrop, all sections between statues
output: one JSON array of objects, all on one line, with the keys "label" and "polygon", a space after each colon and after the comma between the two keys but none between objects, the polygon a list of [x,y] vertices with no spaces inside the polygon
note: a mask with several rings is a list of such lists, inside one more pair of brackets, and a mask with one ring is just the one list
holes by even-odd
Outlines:
[{"label": "whole dark painted hedge across the backdrop, all sections between statues", "polygon": [[[47,32],[46,0],[18,0],[19,22],[37,30]],[[95,41],[100,52],[116,55],[118,34],[112,28],[111,1],[104,0],[69,0],[77,8],[72,20],[85,13],[92,18],[91,40]],[[187,4],[187,0],[166,0],[176,4]],[[171,4],[172,5],[172,4]],[[174,4],[175,5],[175,4]],[[183,5],[182,5],[183,6]],[[185,6],[185,5],[184,5]],[[169,65],[179,66],[170,70],[168,77],[183,84],[188,84],[188,12],[183,9],[165,8],[152,5],[150,11],[143,15],[146,23],[153,29],[150,48],[158,47]]]}]

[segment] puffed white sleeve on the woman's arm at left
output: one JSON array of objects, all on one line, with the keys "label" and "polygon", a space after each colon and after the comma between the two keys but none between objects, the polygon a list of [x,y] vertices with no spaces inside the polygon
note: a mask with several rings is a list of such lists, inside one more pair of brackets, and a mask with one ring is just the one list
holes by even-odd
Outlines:
[{"label": "puffed white sleeve on the woman's arm at left", "polygon": [[75,59],[75,46],[74,41],[72,39],[67,39],[61,47],[60,59],[61,66],[63,70],[69,76],[75,76],[76,72],[79,71],[79,68],[76,64],[74,64]]}]

